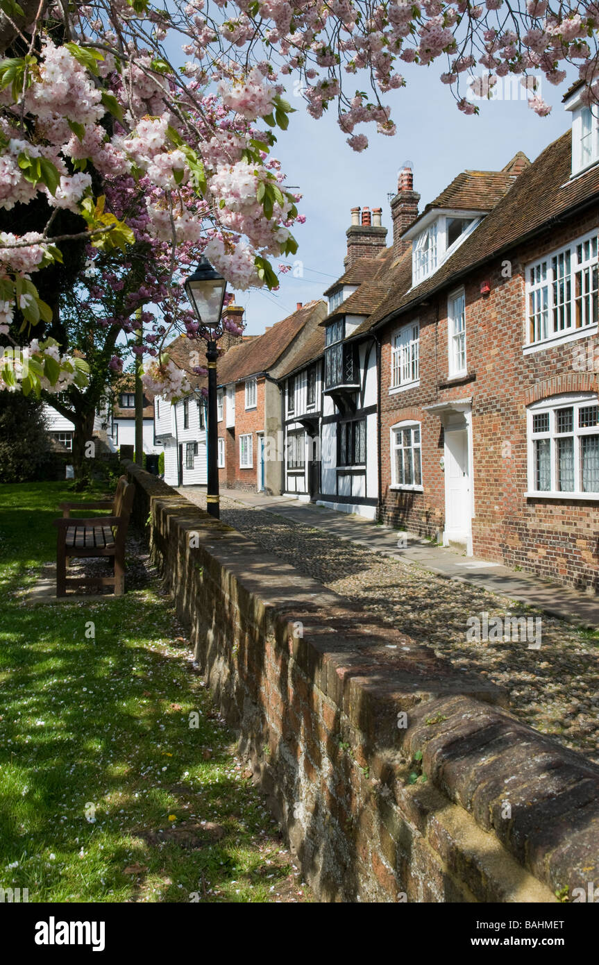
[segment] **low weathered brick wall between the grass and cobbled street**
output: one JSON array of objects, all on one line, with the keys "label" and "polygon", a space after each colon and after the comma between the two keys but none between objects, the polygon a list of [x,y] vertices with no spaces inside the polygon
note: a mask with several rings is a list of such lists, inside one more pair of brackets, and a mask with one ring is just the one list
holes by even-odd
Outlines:
[{"label": "low weathered brick wall between the grass and cobbled street", "polygon": [[152,559],[316,896],[551,902],[599,884],[598,767],[518,722],[501,689],[128,472]]}]

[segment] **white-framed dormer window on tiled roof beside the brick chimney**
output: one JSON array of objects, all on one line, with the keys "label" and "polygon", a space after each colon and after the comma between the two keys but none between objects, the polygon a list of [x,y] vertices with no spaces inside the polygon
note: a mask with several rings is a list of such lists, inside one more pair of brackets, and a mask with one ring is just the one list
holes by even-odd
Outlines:
[{"label": "white-framed dormer window on tiled roof beside the brick chimney", "polygon": [[476,212],[451,211],[439,213],[434,209],[422,218],[421,231],[414,226],[403,236],[413,238],[412,285],[420,285],[434,274],[456,248],[465,241],[480,222]]}]

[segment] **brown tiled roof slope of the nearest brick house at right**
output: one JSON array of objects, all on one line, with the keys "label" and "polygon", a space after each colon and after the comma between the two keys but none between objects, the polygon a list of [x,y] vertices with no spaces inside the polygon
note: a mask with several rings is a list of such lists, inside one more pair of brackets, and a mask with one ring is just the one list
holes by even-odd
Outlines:
[{"label": "brown tiled roof slope of the nearest brick house at right", "polygon": [[497,207],[487,214],[451,258],[417,288],[410,289],[411,272],[406,283],[401,273],[397,276],[395,271],[389,294],[368,318],[368,328],[421,301],[434,290],[453,284],[457,276],[513,247],[570,208],[597,200],[599,166],[571,179],[571,145],[571,131],[568,130],[514,181]]}]

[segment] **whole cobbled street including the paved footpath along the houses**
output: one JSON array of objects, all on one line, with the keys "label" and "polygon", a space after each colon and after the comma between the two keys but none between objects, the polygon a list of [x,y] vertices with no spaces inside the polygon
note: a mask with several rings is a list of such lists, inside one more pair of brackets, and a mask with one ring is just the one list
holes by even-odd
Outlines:
[{"label": "whole cobbled street including the paved footpath along the houses", "polygon": [[[178,490],[205,508],[205,490]],[[325,586],[504,688],[514,714],[599,763],[599,607],[505,566],[285,496],[221,490],[221,518]],[[398,545],[399,541],[399,545]],[[404,545],[405,544],[405,545]],[[467,639],[469,618],[531,618],[533,639]],[[541,620],[541,646],[535,623]],[[505,625],[505,624],[504,624]]]}]

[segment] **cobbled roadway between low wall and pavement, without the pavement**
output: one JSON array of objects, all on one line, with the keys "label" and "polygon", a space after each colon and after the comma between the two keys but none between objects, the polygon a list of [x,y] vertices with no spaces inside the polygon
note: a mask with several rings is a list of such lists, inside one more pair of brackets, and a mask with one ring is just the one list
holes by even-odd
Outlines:
[{"label": "cobbled roadway between low wall and pavement, without the pavement", "polygon": [[[205,509],[204,493],[181,492]],[[577,630],[507,597],[443,579],[223,496],[221,518],[299,572],[449,657],[455,667],[501,685],[521,720],[599,763],[599,632]],[[484,612],[489,621],[504,620],[507,613],[540,617],[541,647],[531,649],[526,641],[468,640],[467,620],[481,620]]]}]

